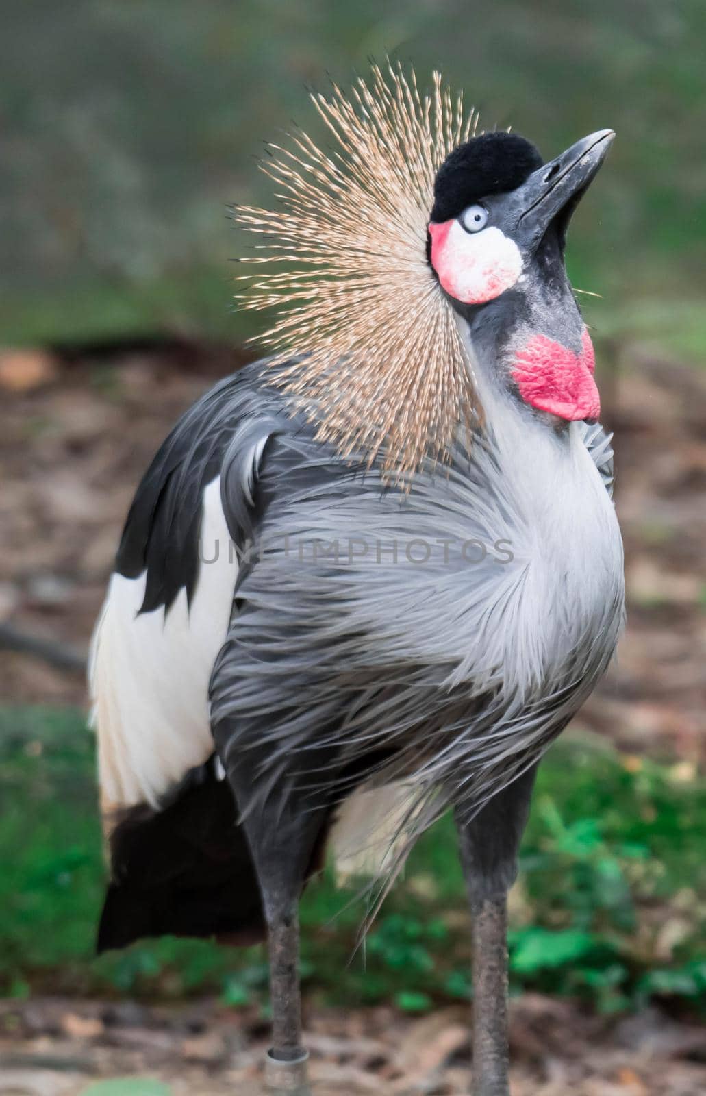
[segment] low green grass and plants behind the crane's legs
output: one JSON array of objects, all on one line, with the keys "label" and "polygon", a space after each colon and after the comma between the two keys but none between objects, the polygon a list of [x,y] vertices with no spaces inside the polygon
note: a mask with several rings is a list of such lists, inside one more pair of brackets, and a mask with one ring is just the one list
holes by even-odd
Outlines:
[{"label": "low green grass and plants behind the crane's legs", "polygon": [[[263,948],[164,938],[93,956],[104,867],[93,743],[71,709],[0,709],[0,990],[266,1001]],[[706,1009],[706,786],[569,737],[542,766],[512,898],[511,986],[619,1012]],[[301,911],[307,992],[424,1011],[471,992],[449,819],[422,838],[355,955],[364,903],[332,874]]]}]

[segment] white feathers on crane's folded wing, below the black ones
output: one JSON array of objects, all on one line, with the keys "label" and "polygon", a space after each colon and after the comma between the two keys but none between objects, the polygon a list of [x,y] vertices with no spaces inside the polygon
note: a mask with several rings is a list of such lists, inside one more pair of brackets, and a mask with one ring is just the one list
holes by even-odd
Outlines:
[{"label": "white feathers on crane's folded wing, below the black ones", "polygon": [[208,681],[226,638],[238,575],[220,502],[220,479],[203,496],[202,553],[191,607],[180,591],[138,615],[146,574],[113,574],[90,658],[92,723],[104,811],[160,797],[214,751]]}]

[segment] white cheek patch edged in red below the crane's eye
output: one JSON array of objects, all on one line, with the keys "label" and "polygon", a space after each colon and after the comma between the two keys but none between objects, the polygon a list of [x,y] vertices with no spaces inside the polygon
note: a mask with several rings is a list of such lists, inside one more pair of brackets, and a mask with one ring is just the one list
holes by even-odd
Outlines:
[{"label": "white cheek patch edged in red below the crane's eye", "polygon": [[432,266],[452,297],[482,305],[515,284],[522,273],[520,248],[499,228],[467,232],[457,220],[431,224]]}]

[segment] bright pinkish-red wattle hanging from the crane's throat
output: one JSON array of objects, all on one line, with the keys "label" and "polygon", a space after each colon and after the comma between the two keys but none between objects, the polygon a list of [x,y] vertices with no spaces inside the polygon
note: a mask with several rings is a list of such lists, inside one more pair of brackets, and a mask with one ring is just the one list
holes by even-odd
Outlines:
[{"label": "bright pinkish-red wattle hanging from the crane's throat", "polygon": [[515,354],[512,376],[533,408],[569,421],[597,419],[601,398],[594,368],[593,344],[584,328],[580,354],[547,335],[533,335]]}]

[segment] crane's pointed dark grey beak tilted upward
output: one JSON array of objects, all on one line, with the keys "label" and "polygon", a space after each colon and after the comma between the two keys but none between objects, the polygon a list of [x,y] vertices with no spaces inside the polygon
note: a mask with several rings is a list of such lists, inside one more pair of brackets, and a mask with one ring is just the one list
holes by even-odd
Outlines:
[{"label": "crane's pointed dark grey beak tilted upward", "polygon": [[527,243],[538,243],[549,222],[561,214],[561,232],[583,193],[596,175],[615,134],[599,129],[538,168],[513,193],[517,202],[517,231]]}]

